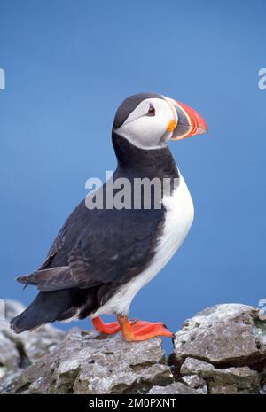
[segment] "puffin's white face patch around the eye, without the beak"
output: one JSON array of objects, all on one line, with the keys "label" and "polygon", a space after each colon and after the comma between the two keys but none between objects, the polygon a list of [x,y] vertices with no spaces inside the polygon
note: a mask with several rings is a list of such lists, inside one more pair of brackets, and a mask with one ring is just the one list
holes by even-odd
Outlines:
[{"label": "puffin's white face patch around the eye, without the beak", "polygon": [[162,98],[146,98],[115,132],[141,149],[158,149],[172,136],[167,128],[176,120],[175,112]]}]

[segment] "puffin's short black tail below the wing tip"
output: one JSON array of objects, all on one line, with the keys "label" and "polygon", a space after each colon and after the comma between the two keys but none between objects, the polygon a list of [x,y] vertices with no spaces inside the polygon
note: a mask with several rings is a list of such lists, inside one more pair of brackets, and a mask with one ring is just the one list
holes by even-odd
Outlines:
[{"label": "puffin's short black tail below the wing tip", "polygon": [[77,312],[69,289],[40,292],[24,312],[14,317],[11,328],[16,333],[35,330],[45,323],[64,321]]}]

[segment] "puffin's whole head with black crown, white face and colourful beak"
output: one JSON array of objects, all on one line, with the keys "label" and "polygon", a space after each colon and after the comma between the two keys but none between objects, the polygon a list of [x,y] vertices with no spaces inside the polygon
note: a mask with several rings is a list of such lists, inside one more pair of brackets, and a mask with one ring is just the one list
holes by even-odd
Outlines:
[{"label": "puffin's whole head with black crown, white face and colourful beak", "polygon": [[207,132],[205,120],[191,107],[156,93],[126,98],[113,121],[113,131],[141,149],[156,149],[168,140]]}]

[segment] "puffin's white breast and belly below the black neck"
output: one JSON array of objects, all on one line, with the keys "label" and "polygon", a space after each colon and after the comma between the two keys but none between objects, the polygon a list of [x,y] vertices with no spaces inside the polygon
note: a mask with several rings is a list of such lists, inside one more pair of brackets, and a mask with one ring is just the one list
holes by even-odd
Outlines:
[{"label": "puffin's white breast and belly below the black neck", "polygon": [[127,284],[123,284],[121,289],[91,317],[101,314],[127,315],[130,303],[136,293],[160,272],[160,269],[168,263],[168,260],[171,259],[176,250],[182,245],[192,226],[194,207],[191,194],[181,175],[179,184],[172,195],[168,198],[163,198],[163,205],[166,208],[164,228],[156,254],[149,268],[146,268]]}]

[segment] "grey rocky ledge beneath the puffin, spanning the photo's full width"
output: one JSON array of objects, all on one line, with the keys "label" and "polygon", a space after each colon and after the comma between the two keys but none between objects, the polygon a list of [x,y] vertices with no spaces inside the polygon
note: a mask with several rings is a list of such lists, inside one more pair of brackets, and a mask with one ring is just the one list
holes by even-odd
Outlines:
[{"label": "grey rocky ledge beneath the puffin, spanning the photo's full width", "polygon": [[176,333],[168,359],[160,338],[51,326],[15,335],[8,320],[22,309],[7,300],[0,322],[0,393],[266,393],[266,322],[255,307],[205,309]]}]

